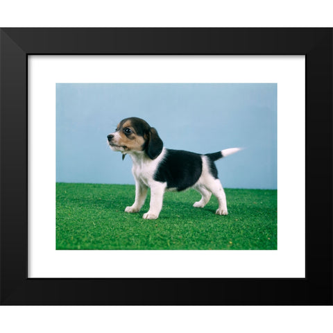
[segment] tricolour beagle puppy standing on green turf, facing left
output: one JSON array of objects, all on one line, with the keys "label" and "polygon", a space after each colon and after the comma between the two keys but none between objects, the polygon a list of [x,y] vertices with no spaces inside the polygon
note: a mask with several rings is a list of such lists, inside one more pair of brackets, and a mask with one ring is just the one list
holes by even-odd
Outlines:
[{"label": "tricolour beagle puppy standing on green turf, facing left", "polygon": [[201,194],[194,207],[205,207],[212,194],[219,200],[216,214],[227,215],[227,201],[214,161],[236,153],[240,148],[229,148],[217,153],[200,155],[189,151],[164,148],[157,130],[143,119],[123,119],[114,133],[108,135],[112,151],[120,151],[123,158],[130,155],[135,178],[135,201],[125,212],[139,212],[146,200],[148,187],[151,202],[144,219],[157,219],[162,210],[165,191],[182,191],[190,187]]}]

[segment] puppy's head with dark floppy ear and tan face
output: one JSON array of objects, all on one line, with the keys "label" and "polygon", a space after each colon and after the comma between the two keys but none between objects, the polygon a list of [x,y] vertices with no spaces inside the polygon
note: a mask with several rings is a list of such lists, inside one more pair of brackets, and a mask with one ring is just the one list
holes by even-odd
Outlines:
[{"label": "puppy's head with dark floppy ear and tan face", "polygon": [[108,135],[108,144],[112,151],[121,151],[123,154],[144,151],[151,160],[160,155],[163,148],[157,130],[136,117],[123,119],[116,131]]}]

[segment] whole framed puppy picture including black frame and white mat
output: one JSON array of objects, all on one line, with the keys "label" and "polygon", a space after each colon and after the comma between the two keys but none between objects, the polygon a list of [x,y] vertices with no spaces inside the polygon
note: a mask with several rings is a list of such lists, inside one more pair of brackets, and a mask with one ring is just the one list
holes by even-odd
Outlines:
[{"label": "whole framed puppy picture including black frame and white mat", "polygon": [[1,304],[332,305],[332,29],[0,37]]}]

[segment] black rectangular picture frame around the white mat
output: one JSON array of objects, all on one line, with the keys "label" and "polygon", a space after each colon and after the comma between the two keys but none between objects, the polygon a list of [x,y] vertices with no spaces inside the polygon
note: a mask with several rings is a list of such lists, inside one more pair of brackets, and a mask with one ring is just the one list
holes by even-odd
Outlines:
[{"label": "black rectangular picture frame around the white mat", "polygon": [[[1,304],[332,305],[332,36],[332,28],[1,28]],[[306,278],[28,278],[29,55],[304,55]]]}]

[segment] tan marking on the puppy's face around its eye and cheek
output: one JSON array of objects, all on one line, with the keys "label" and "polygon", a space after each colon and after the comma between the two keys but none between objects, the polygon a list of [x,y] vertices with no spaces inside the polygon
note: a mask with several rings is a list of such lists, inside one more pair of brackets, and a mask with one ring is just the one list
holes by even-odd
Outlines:
[{"label": "tan marking on the puppy's face around its eye and cheek", "polygon": [[[126,135],[123,133],[125,128],[130,128],[132,133],[130,135]],[[145,139],[141,135],[137,135],[135,128],[133,128],[130,120],[126,121],[121,125],[121,123],[117,126],[117,132],[114,135],[113,143],[118,146],[123,146],[124,151],[142,151],[142,146],[144,145]]]}]

